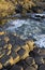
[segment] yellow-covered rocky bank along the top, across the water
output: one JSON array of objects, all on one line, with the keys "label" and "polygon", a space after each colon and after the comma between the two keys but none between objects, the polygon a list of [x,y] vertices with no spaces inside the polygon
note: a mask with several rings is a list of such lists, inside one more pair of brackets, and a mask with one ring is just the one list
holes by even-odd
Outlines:
[{"label": "yellow-covered rocky bank along the top, across the water", "polygon": [[[3,5],[3,6],[2,6]],[[45,1],[34,0],[1,0],[0,18],[15,14],[43,13],[45,11]],[[8,19],[0,20],[0,24],[6,23]]]}]

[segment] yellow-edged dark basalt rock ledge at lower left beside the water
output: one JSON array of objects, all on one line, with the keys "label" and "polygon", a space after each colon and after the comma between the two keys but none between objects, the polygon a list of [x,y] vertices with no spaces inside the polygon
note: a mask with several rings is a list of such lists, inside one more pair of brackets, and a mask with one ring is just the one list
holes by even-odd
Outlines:
[{"label": "yellow-edged dark basalt rock ledge at lower left beside the water", "polygon": [[14,33],[0,32],[0,69],[28,57],[33,45],[33,41],[24,41]]}]

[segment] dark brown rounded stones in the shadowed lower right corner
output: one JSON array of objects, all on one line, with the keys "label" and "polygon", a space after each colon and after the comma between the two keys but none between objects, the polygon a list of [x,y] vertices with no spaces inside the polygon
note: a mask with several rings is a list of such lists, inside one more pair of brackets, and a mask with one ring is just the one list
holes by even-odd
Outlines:
[{"label": "dark brown rounded stones in the shadowed lower right corner", "polygon": [[35,47],[26,59],[2,70],[45,70],[45,48]]}]

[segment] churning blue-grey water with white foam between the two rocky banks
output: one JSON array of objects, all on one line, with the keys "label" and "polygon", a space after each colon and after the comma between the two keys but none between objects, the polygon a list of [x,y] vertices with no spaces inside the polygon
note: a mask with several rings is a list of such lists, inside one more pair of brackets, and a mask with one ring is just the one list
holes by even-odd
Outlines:
[{"label": "churning blue-grey water with white foam between the two rocky banks", "polygon": [[4,30],[16,32],[21,39],[34,39],[38,45],[45,47],[45,18],[41,20],[30,18],[11,20],[4,26]]}]

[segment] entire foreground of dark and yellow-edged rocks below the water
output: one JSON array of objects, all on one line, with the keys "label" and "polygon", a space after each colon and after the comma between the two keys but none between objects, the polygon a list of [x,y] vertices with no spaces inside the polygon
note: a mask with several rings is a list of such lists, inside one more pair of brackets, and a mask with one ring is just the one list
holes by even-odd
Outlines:
[{"label": "entire foreground of dark and yellow-edged rocks below the water", "polygon": [[45,48],[32,40],[0,32],[0,70],[45,70]]}]

